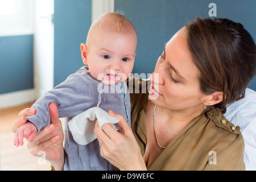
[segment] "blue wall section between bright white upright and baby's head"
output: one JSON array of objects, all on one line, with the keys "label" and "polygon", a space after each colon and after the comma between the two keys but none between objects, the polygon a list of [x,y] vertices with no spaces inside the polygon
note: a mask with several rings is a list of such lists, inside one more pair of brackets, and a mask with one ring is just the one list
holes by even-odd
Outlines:
[{"label": "blue wall section between bright white upright and baby's head", "polygon": [[85,43],[92,17],[91,0],[55,0],[54,85],[82,65],[80,44]]}]

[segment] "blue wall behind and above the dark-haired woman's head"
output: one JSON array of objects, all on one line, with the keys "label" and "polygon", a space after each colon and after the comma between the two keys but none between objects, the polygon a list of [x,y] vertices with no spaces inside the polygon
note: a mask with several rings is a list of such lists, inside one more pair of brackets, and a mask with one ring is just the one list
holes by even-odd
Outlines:
[{"label": "blue wall behind and above the dark-haired woman's head", "polygon": [[[152,73],[164,43],[195,15],[209,17],[212,2],[217,5],[217,17],[242,23],[256,40],[255,0],[116,0],[115,11],[122,10],[138,33],[133,73]],[[249,87],[256,90],[256,77]]]}]

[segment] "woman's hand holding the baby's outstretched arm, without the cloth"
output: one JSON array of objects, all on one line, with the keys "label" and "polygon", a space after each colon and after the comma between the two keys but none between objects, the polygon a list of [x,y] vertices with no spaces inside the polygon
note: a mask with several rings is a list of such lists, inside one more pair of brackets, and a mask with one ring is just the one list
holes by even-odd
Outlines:
[{"label": "woman's hand holding the baby's outstretched arm, without the cloth", "polygon": [[[24,109],[19,113],[19,119],[14,123],[13,132],[15,133],[19,126],[26,123],[26,117],[28,115],[35,114],[35,110],[30,108]],[[59,119],[59,113],[55,103],[49,104],[49,115],[51,118],[51,125],[45,127],[35,138],[28,142],[27,147],[30,153],[34,156],[39,156],[40,151],[44,151],[46,154],[46,160],[48,160],[55,169],[63,169],[64,164],[64,148],[63,140],[64,134]]]}]

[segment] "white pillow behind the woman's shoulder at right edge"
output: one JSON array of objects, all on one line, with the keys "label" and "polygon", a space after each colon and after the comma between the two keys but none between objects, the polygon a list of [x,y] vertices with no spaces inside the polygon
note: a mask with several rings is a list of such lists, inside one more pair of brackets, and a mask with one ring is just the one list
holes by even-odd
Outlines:
[{"label": "white pillow behind the woman's shoulder at right edge", "polygon": [[245,90],[245,98],[229,104],[224,114],[235,126],[240,126],[245,152],[243,161],[246,170],[256,170],[256,92]]}]

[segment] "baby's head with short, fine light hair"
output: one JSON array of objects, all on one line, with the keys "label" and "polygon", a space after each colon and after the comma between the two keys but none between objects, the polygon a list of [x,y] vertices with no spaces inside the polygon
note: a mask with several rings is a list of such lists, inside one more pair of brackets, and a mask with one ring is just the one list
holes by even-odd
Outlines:
[{"label": "baby's head with short, fine light hair", "polygon": [[90,27],[86,44],[81,44],[82,60],[94,78],[113,85],[129,77],[136,47],[133,24],[121,14],[107,13]]}]

